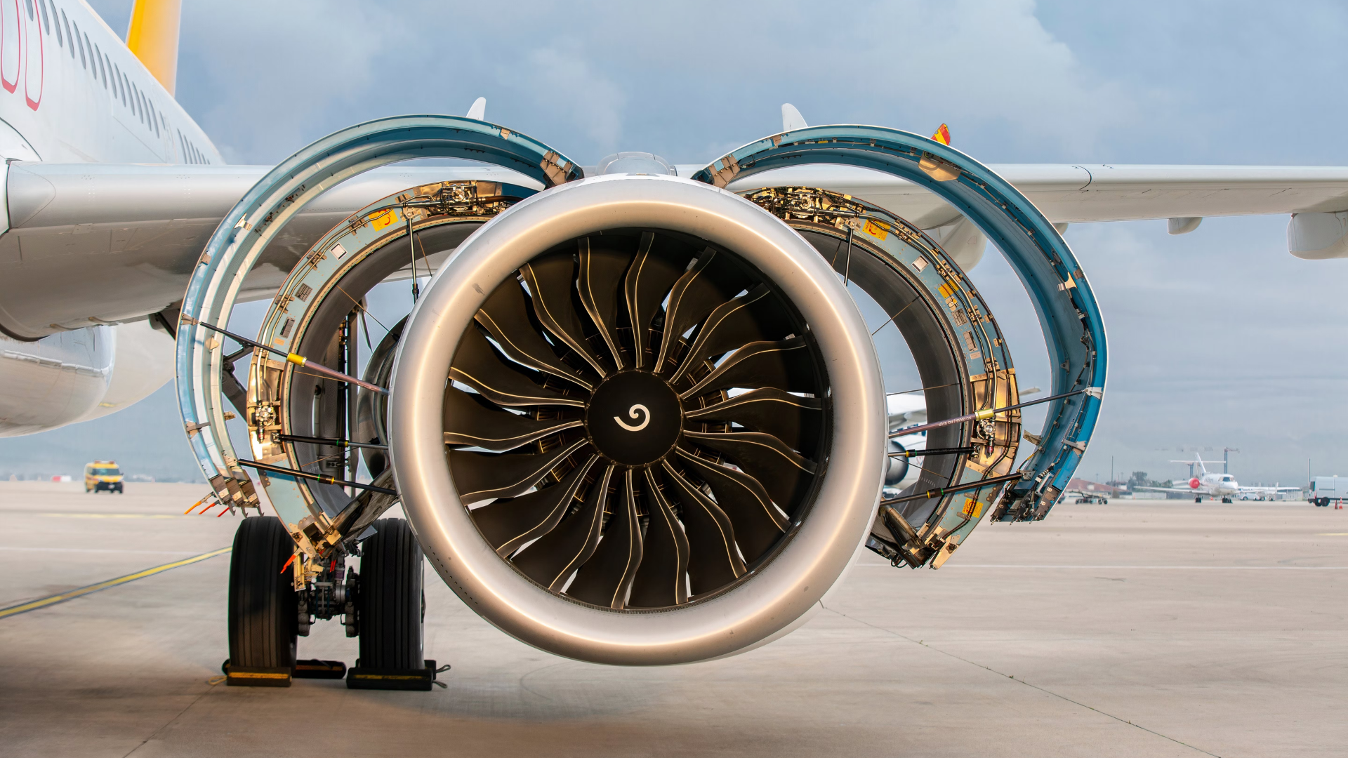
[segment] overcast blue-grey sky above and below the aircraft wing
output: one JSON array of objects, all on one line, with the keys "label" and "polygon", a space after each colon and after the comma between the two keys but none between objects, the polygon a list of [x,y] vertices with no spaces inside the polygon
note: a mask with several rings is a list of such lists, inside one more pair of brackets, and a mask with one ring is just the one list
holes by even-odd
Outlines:
[{"label": "overcast blue-grey sky above and below the aircraft wing", "polygon": [[[124,30],[129,0],[93,0]],[[705,162],[811,124],[930,134],[987,163],[1348,165],[1348,12],[1297,3],[213,3],[186,0],[178,100],[239,163],[356,121],[487,117],[581,163],[619,150]],[[1080,473],[1169,479],[1177,448],[1232,453],[1243,483],[1348,475],[1348,260],[1286,252],[1286,217],[1073,225],[1109,336],[1104,413]],[[1024,293],[989,251],[972,276],[1022,386],[1045,384]],[[94,445],[97,441],[97,445]],[[117,448],[191,476],[163,390],[113,417],[0,441],[0,468],[70,473]],[[100,453],[108,455],[108,453]],[[1192,455],[1192,453],[1186,453]]]}]

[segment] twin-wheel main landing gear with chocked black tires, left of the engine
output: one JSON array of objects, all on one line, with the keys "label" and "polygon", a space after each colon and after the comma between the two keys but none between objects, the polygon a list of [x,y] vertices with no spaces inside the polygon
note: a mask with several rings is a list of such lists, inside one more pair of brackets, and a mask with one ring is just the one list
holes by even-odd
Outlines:
[{"label": "twin-wheel main landing gear with chocked black tires, left of the engine", "polygon": [[[303,562],[275,517],[239,525],[229,562],[229,660],[222,666],[231,685],[290,687],[293,678],[345,676],[352,689],[431,688],[435,662],[422,658],[421,545],[403,519],[372,526],[375,534],[360,544],[357,575],[346,571],[345,554],[326,566]],[[297,637],[309,635],[315,616],[336,615],[346,637],[360,638],[356,665],[348,670],[341,661],[297,660]]]}]

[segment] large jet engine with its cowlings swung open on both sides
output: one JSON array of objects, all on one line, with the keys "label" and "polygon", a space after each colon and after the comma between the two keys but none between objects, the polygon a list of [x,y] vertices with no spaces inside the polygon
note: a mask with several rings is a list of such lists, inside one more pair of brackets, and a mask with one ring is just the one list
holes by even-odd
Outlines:
[{"label": "large jet engine with its cowlings swung open on both sides", "polygon": [[[179,325],[179,394],[216,496],[252,513],[260,499],[245,468],[260,472],[306,566],[295,569],[295,588],[310,592],[303,614],[317,607],[313,588],[340,584],[325,572],[396,502],[439,576],[487,620],[541,649],[620,665],[766,643],[817,607],[863,545],[895,565],[938,566],[985,513],[1042,518],[1103,387],[1084,276],[1051,225],[1008,210],[1014,190],[976,163],[925,151],[944,146],[914,135],[847,129],[871,129],[852,151],[915,144],[902,159],[911,166],[896,165],[933,186],[969,179],[984,198],[967,202],[969,217],[1008,258],[1024,258],[1018,270],[1041,313],[1076,314],[1046,324],[1061,391],[1019,469],[1006,340],[934,240],[821,187],[725,189],[755,165],[772,167],[790,135],[693,178],[584,178],[516,132],[403,117],[297,154],[240,201],[202,256]],[[829,144],[816,131],[799,144]],[[222,332],[229,283],[287,217],[326,186],[411,156],[488,159],[543,190],[446,179],[390,196],[310,248],[256,340]],[[357,378],[365,294],[408,268],[434,275]],[[855,298],[884,313],[879,324]],[[911,457],[891,441],[872,343],[888,324],[913,352],[927,417],[948,421],[914,450],[918,480],[882,500]],[[221,368],[235,357],[224,336],[253,348],[247,398],[235,398],[252,460],[216,432]]]}]

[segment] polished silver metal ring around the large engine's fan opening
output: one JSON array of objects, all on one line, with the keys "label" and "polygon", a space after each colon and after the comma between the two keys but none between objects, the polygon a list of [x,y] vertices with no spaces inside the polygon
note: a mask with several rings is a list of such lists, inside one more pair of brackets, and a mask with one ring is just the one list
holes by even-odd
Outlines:
[{"label": "polished silver metal ring around the large engine's fan opening", "polygon": [[[572,603],[503,561],[460,503],[438,414],[457,340],[506,276],[597,228],[646,227],[736,251],[799,309],[829,371],[833,444],[811,517],[752,581],[705,603],[617,614]],[[415,345],[415,348],[407,348]],[[422,294],[392,375],[392,465],[437,572],[488,622],[561,655],[669,665],[736,654],[786,634],[851,562],[874,517],[884,464],[884,392],[869,332],[832,268],[780,220],[733,193],[674,177],[599,177],[539,193],[474,232]]]}]

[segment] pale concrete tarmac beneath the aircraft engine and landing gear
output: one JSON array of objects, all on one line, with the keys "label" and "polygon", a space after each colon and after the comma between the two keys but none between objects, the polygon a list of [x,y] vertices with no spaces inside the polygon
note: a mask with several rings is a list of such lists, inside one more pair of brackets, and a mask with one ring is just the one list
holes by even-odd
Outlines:
[{"label": "pale concrete tarmac beneath the aircraft engine and landing gear", "polygon": [[[228,546],[204,486],[0,483],[0,607]],[[433,692],[212,685],[229,556],[0,618],[0,754],[1312,757],[1348,745],[1348,510],[1124,502],[867,553],[801,630],[623,669],[541,653],[429,572]],[[306,658],[355,661],[336,622]]]}]

